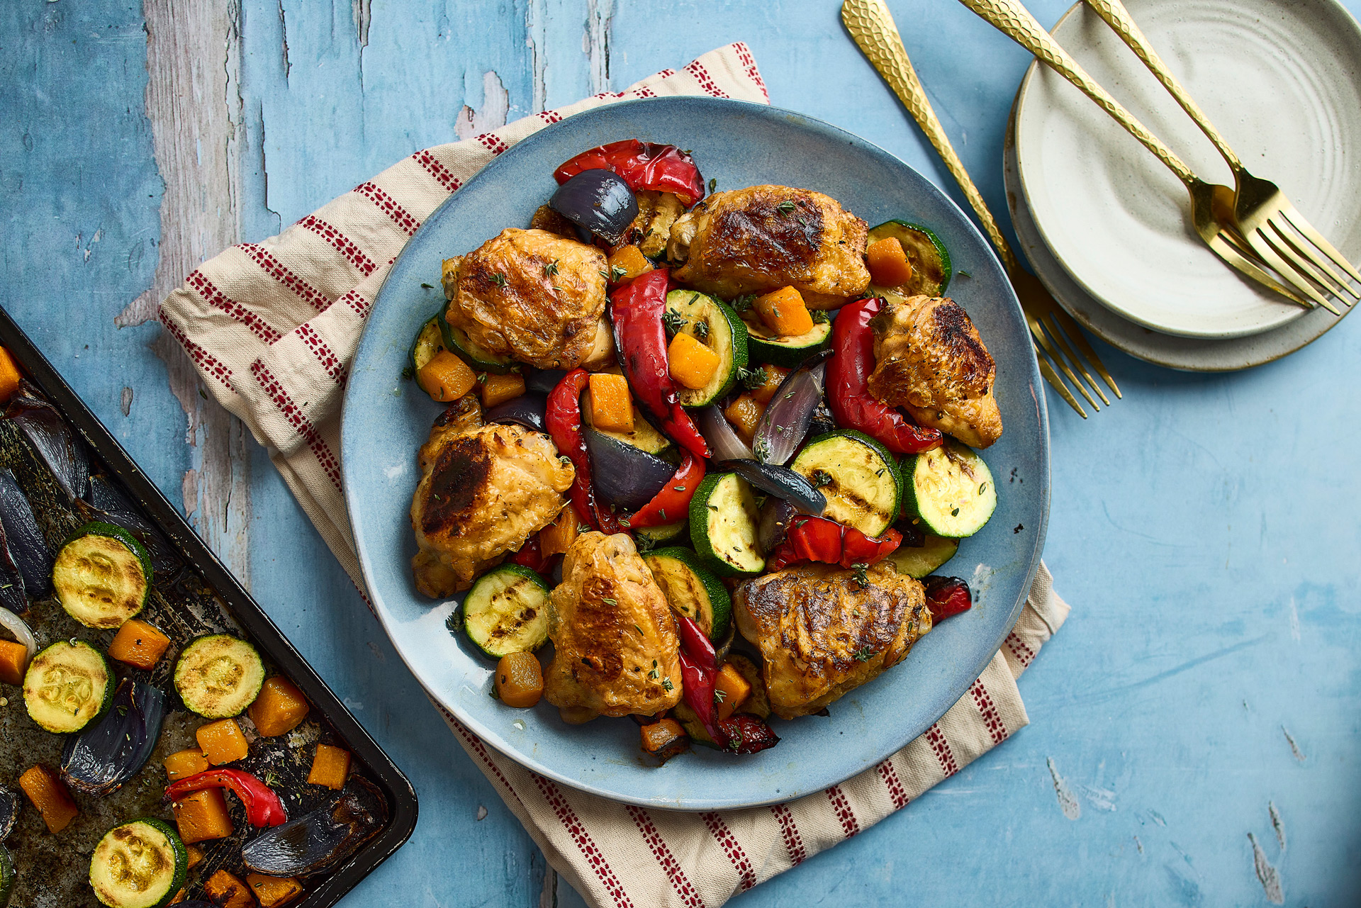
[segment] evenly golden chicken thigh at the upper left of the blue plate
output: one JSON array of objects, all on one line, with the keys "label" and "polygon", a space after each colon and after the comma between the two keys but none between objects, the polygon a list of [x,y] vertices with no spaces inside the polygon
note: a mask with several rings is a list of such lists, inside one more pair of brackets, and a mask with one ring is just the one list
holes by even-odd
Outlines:
[{"label": "evenly golden chicken thigh at the upper left of the blue plate", "polygon": [[444,263],[445,319],[489,353],[539,369],[604,365],[606,257],[547,230],[502,230]]}]

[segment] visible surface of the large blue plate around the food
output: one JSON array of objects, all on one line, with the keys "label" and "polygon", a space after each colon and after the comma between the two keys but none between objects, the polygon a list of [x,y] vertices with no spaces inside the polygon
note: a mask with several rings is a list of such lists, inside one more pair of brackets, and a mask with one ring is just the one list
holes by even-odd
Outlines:
[{"label": "visible surface of the large blue plate around the food", "polygon": [[[784,184],[825,192],[871,225],[930,225],[954,260],[950,294],[968,309],[998,361],[1006,432],[984,452],[999,483],[992,521],[946,566],[973,587],[972,611],[942,623],[901,664],[832,704],[832,716],[773,721],[783,741],[750,757],[704,747],[646,766],[629,719],[568,726],[557,709],[512,709],[490,696],[493,663],[445,621],[457,602],[416,592],[408,509],[416,448],[440,406],[401,377],[411,339],[444,305],[442,259],[528,223],[572,155],[638,137],[691,148],[720,189]],[[1017,298],[983,236],[891,154],[788,110],[710,98],[633,101],[577,114],[493,161],[422,225],[369,316],[344,403],[346,501],[373,603],[397,652],[426,690],[483,741],[523,765],[607,798],[680,810],[744,807],[798,798],[874,766],[925,731],[996,652],[1025,602],[1049,510],[1044,391]]]}]

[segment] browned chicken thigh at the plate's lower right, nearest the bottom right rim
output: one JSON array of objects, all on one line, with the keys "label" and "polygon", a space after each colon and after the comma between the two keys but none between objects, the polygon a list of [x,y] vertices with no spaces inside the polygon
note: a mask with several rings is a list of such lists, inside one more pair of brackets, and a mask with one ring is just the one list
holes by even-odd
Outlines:
[{"label": "browned chicken thigh at the plate's lower right, nearest the bottom right rim", "polygon": [[862,587],[853,570],[806,564],[736,588],[738,630],[765,658],[770,708],[781,719],[818,712],[878,677],[931,630],[920,583],[886,562],[867,577]]}]

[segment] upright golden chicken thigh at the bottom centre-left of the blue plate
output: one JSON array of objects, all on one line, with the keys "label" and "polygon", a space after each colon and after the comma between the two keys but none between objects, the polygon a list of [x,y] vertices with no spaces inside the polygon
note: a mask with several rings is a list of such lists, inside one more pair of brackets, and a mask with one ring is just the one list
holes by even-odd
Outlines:
[{"label": "upright golden chicken thigh at the bottom centre-left of the blue plate", "polygon": [[653,715],[680,701],[675,617],[627,534],[577,536],[548,599],[543,696],[570,723]]}]

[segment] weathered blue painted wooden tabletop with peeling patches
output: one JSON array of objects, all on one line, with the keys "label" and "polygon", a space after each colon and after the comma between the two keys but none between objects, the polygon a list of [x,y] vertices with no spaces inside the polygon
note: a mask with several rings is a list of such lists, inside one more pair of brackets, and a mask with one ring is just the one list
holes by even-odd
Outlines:
[{"label": "weathered blue painted wooden tabletop with peeling patches", "polygon": [[[735,39],[774,103],[955,187],[836,0],[169,7],[0,4],[0,305],[410,773],[419,828],[344,904],[580,904],[261,449],[201,395],[157,299],[415,148]],[[1030,7],[1053,22],[1066,3]],[[1002,136],[1028,57],[953,3],[893,8],[1004,212]],[[1074,613],[1022,681],[1032,727],[734,904],[1249,905],[1267,898],[1260,878],[1292,905],[1361,898],[1357,325],[1228,376],[1101,355],[1124,402],[1083,423],[1051,395],[1047,560]]]}]

